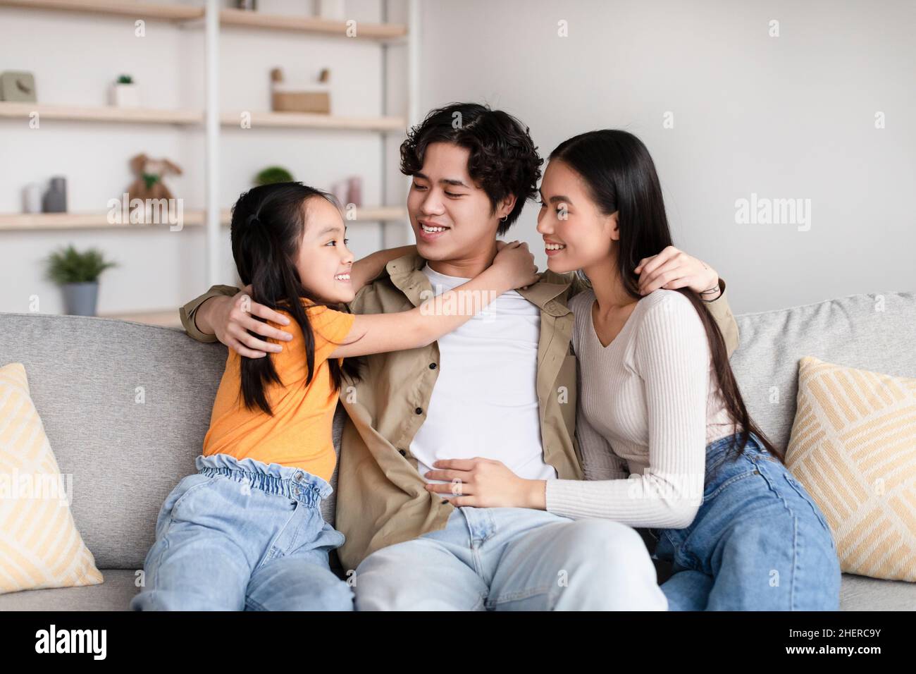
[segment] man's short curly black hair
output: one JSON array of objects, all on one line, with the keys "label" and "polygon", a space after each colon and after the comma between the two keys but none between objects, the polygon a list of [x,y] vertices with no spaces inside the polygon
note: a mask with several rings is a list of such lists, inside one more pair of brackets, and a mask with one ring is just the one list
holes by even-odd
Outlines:
[{"label": "man's short curly black hair", "polygon": [[515,194],[516,204],[500,222],[496,234],[505,234],[518,220],[525,202],[538,193],[540,165],[544,162],[529,135],[529,128],[502,110],[477,103],[452,103],[432,110],[401,143],[400,171],[414,175],[422,170],[423,156],[431,143],[453,143],[471,151],[467,171],[479,184],[496,211],[496,204]]}]

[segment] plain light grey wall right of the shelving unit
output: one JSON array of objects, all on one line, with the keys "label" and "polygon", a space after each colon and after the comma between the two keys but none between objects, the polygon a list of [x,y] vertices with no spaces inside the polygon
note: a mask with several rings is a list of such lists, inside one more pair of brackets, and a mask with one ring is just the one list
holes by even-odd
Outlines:
[{"label": "plain light grey wall right of the shelving unit", "polygon": [[[526,122],[545,156],[586,130],[635,133],[659,170],[675,245],[719,271],[736,312],[916,290],[916,3],[422,9],[423,109],[488,102]],[[736,224],[736,199],[751,193],[811,199],[810,230]],[[529,205],[511,236],[539,249],[543,268],[536,213]]]}]

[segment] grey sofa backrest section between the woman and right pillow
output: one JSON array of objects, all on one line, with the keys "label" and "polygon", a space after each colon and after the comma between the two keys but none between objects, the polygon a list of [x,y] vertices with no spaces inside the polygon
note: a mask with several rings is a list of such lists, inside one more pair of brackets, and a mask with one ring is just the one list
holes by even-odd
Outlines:
[{"label": "grey sofa backrest section between the woman and right pillow", "polygon": [[916,293],[850,295],[736,315],[732,370],[751,418],[782,450],[789,444],[799,359],[916,377]]}]

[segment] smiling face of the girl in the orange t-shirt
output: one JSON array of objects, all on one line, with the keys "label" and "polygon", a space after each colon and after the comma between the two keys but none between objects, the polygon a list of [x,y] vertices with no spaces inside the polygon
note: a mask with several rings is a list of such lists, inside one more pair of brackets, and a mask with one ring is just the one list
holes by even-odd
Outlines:
[{"label": "smiling face of the girl in the orange t-shirt", "polygon": [[302,204],[305,227],[296,270],[306,290],[328,303],[352,302],[350,282],[353,253],[346,247],[344,218],[337,207],[322,197]]}]

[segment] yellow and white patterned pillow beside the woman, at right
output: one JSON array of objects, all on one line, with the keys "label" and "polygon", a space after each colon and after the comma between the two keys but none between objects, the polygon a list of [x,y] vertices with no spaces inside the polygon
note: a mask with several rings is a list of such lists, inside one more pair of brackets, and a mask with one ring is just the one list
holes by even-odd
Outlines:
[{"label": "yellow and white patterned pillow beside the woman, at right", "polygon": [[841,569],[916,581],[916,379],[802,358],[786,465],[821,506]]}]

